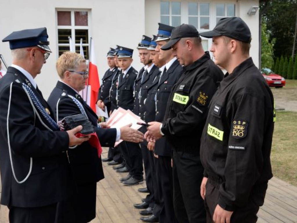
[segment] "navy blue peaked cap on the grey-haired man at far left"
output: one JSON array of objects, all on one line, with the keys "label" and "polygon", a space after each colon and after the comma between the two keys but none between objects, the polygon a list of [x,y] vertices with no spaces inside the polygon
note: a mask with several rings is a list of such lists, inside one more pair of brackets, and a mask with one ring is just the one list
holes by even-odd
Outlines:
[{"label": "navy blue peaked cap on the grey-haired man at far left", "polygon": [[48,47],[50,42],[48,42],[48,34],[45,27],[12,32],[2,42],[9,42],[11,50],[38,46],[46,52],[52,52]]}]

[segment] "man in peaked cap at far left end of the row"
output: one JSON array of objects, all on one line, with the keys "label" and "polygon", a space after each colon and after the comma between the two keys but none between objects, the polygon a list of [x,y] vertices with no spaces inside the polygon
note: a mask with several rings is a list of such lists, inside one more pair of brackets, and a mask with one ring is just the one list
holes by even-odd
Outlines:
[{"label": "man in peaked cap at far left end of the row", "polygon": [[[104,76],[102,77],[102,84],[98,91],[98,98],[97,98],[97,105],[100,109],[104,110],[105,106],[107,109],[108,114],[110,113],[110,98],[109,98],[109,91],[112,84],[113,76],[117,73],[118,68],[116,67],[116,64],[114,62],[114,51],[115,49],[110,48],[107,53],[107,62],[109,69],[106,70]],[[108,150],[108,156],[107,158],[102,159],[103,162],[112,161],[114,157],[114,152],[118,151],[114,148],[110,147]],[[119,156],[121,159],[121,156]],[[118,160],[115,160],[118,161]]]}]

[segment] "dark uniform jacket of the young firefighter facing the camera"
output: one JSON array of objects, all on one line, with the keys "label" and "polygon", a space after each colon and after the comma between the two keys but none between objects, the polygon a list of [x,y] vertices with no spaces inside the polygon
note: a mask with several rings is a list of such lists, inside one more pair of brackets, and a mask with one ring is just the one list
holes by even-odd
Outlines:
[{"label": "dark uniform jacket of the young firefighter facing the camera", "polygon": [[133,67],[130,67],[125,77],[123,77],[123,74],[121,74],[118,85],[118,107],[122,107],[126,110],[130,109],[131,111],[133,111],[133,88],[137,74],[137,70],[135,70]]}]

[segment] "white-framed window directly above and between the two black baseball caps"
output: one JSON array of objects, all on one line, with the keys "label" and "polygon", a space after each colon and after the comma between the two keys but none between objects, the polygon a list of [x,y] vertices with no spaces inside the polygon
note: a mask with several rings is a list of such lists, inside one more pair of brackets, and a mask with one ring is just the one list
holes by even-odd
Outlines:
[{"label": "white-framed window directly above and between the two black baseball caps", "polygon": [[209,3],[189,2],[188,3],[188,24],[197,29],[209,29]]}]

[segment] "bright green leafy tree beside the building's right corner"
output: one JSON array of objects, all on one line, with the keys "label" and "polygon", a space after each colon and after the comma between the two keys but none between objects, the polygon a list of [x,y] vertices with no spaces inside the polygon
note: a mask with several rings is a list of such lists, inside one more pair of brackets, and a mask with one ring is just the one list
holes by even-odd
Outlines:
[{"label": "bright green leafy tree beside the building's right corner", "polygon": [[266,22],[262,20],[261,24],[261,68],[273,68],[273,46],[275,38],[270,40],[270,34],[267,32]]}]

